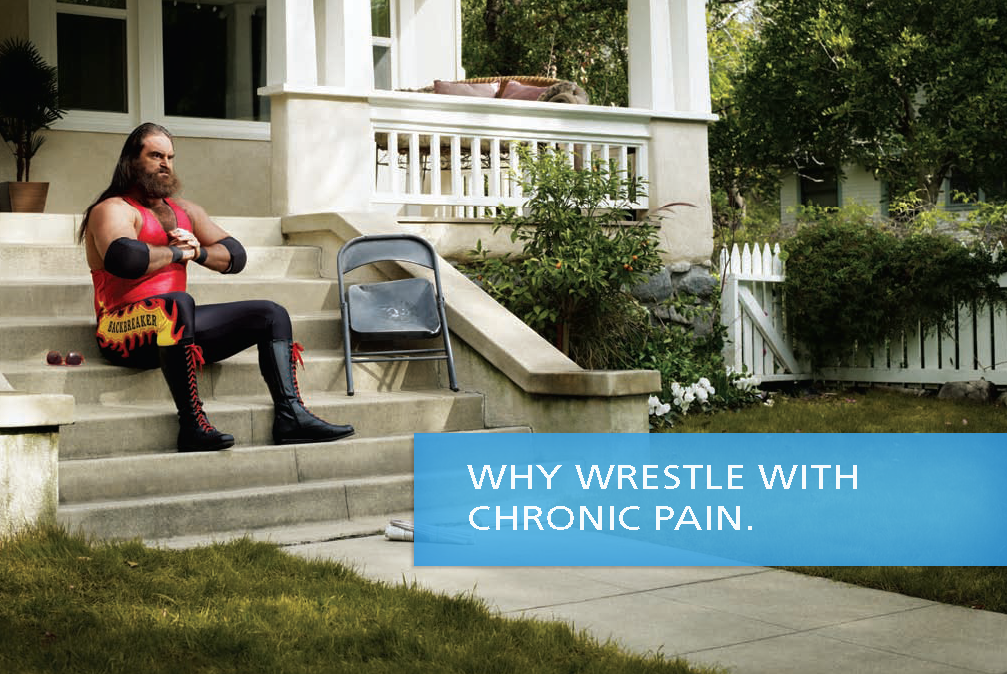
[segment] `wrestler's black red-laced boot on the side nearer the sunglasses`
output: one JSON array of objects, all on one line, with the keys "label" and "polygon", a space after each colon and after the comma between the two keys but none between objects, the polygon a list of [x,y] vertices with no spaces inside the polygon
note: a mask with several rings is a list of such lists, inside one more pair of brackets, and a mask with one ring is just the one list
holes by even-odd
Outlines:
[{"label": "wrestler's black red-laced boot on the side nearer the sunglasses", "polygon": [[217,451],[235,443],[235,436],[213,428],[202,411],[195,370],[202,367],[202,350],[194,344],[161,347],[161,372],[178,409],[178,451]]}]

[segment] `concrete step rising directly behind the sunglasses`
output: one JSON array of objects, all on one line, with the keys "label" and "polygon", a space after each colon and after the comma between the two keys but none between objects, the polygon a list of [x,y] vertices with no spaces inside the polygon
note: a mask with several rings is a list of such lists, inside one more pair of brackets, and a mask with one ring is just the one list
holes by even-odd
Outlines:
[{"label": "concrete step rising directly behind the sunglasses", "polygon": [[[337,310],[312,311],[290,316],[294,340],[306,355],[315,351],[341,350],[342,332]],[[87,366],[104,363],[95,342],[95,316],[13,316],[0,317],[0,372],[4,367],[38,366],[49,351],[65,354],[77,351]]]}]

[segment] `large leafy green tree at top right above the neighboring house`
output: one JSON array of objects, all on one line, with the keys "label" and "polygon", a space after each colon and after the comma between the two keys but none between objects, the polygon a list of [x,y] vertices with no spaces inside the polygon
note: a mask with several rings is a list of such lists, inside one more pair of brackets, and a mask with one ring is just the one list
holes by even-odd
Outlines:
[{"label": "large leafy green tree at top right above the neighboring house", "polygon": [[737,83],[751,165],[851,162],[925,205],[1007,171],[1003,0],[759,0]]}]

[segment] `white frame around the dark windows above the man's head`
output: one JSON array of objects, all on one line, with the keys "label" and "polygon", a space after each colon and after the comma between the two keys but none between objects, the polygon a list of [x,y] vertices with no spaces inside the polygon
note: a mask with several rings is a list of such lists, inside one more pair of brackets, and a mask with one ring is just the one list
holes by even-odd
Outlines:
[{"label": "white frame around the dark windows above the man's head", "polygon": [[[211,0],[210,0],[211,1]],[[269,122],[172,117],[164,114],[164,51],[161,0],[126,0],[126,9],[31,0],[29,34],[48,63],[58,68],[56,13],[124,18],[126,21],[126,113],[69,110],[52,125],[61,131],[129,133],[143,122],[168,128],[172,135],[196,138],[269,140]]]}]

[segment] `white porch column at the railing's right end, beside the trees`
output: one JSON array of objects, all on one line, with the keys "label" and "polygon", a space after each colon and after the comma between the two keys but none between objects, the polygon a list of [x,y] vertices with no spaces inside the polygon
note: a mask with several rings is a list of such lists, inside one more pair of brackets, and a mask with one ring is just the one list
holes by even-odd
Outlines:
[{"label": "white porch column at the railing's right end, beside the trees", "polygon": [[704,0],[629,0],[629,107],[710,112]]}]

